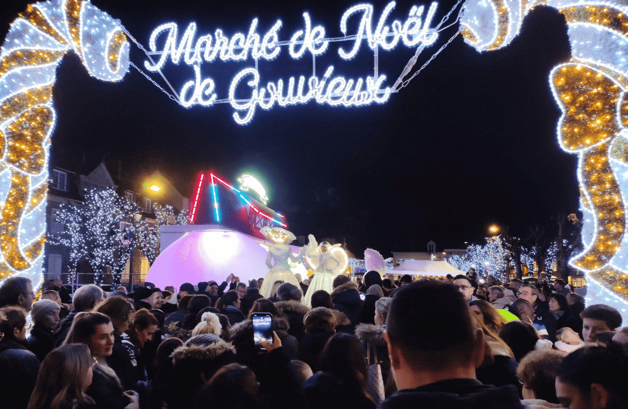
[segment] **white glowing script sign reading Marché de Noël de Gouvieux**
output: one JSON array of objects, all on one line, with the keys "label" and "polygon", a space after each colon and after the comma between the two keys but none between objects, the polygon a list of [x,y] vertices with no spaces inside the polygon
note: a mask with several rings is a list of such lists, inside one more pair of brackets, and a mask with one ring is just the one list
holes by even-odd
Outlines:
[{"label": "white glowing script sign reading March\u00e9 de No\u00ebl de Gouvieux", "polygon": [[[383,104],[391,95],[391,87],[386,87],[386,75],[377,72],[377,64],[372,77],[345,78],[337,75],[332,78],[334,67],[328,66],[322,78],[315,75],[315,68],[310,78],[301,75],[290,77],[284,83],[283,79],[268,82],[266,87],[260,87],[261,77],[257,70],[258,60],[273,60],[281,53],[281,46],[288,47],[288,53],[295,59],[302,58],[310,53],[313,58],[323,55],[330,49],[330,43],[350,41],[350,48],[338,47],[338,56],[343,60],[350,60],[357,55],[363,40],[374,51],[392,50],[399,43],[408,47],[425,47],[433,44],[438,38],[435,28],[430,28],[436,13],[438,3],[431,3],[426,10],[425,6],[412,6],[403,23],[394,20],[387,24],[390,14],[396,3],[391,1],[386,5],[373,28],[374,9],[371,4],[357,4],[345,11],[340,19],[342,37],[328,38],[322,25],[313,26],[309,13],[303,13],[304,26],[293,35],[290,40],[281,41],[279,31],[281,20],[276,21],[266,33],[257,33],[258,19],[253,19],[247,34],[236,33],[227,37],[222,29],[216,29],[214,35],[203,34],[196,41],[197,24],[190,23],[183,35],[179,38],[176,23],[161,24],[153,30],[149,38],[149,56],[159,55],[154,61],[144,61],[144,67],[152,72],[160,72],[168,61],[178,65],[181,61],[193,67],[194,79],[186,82],[181,88],[179,100],[184,107],[192,105],[214,105],[229,103],[236,112],[233,117],[237,124],[245,125],[251,122],[257,106],[268,110],[277,103],[281,107],[287,105],[306,104],[315,100],[318,104],[345,107],[359,107],[373,102]],[[355,17],[354,17],[355,16]],[[357,29],[350,33],[347,22],[355,20]],[[161,46],[158,45],[161,44]],[[242,68],[230,82],[229,94],[225,99],[219,99],[215,88],[214,78],[203,78],[200,66],[203,62],[212,62],[219,58],[222,61],[250,61],[254,60],[256,67]],[[313,65],[314,65],[313,61]],[[244,93],[246,98],[238,98]]]}]

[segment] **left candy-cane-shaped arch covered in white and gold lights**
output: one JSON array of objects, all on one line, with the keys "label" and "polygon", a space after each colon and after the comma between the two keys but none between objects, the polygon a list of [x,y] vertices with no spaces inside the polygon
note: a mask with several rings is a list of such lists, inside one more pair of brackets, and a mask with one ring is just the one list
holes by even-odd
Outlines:
[{"label": "left candy-cane-shaped arch covered in white and gold lights", "polygon": [[119,21],[89,1],[28,5],[0,48],[0,282],[21,275],[37,288],[43,279],[52,88],[69,51],[99,80],[119,81],[129,68]]}]

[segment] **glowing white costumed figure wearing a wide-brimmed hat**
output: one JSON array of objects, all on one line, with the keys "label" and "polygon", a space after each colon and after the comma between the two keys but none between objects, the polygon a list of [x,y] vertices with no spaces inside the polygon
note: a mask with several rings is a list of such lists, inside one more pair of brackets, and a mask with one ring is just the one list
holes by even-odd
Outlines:
[{"label": "glowing white costumed figure wearing a wide-brimmed hat", "polygon": [[[262,288],[259,289],[259,294],[264,298],[273,297],[274,294],[271,294],[271,290],[273,289],[274,282],[278,280],[294,284],[296,288],[301,289],[295,274],[290,270],[290,262],[288,262],[288,259],[292,260],[293,263],[299,262],[303,258],[307,248],[303,246],[299,254],[295,256],[288,246],[288,243],[296,239],[295,235],[290,231],[269,226],[264,226],[259,231],[261,231],[268,240],[274,243],[273,246],[268,249],[268,257],[266,257],[266,265],[268,265],[270,271],[266,274],[266,277],[264,277],[264,282],[262,283]],[[271,263],[271,260],[274,260],[274,264]]]}]

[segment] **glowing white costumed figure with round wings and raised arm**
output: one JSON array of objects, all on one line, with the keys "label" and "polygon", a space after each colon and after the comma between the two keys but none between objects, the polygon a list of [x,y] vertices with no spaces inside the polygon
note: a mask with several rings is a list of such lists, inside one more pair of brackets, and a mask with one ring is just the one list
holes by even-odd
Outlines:
[{"label": "glowing white costumed figure with round wings and raised arm", "polygon": [[347,269],[349,257],[340,248],[340,244],[331,246],[327,242],[322,242],[319,246],[313,235],[309,235],[308,238],[310,242],[307,247],[307,260],[315,270],[310,280],[310,287],[305,294],[304,304],[311,307],[311,297],[315,291],[325,290],[332,294],[333,279]]}]

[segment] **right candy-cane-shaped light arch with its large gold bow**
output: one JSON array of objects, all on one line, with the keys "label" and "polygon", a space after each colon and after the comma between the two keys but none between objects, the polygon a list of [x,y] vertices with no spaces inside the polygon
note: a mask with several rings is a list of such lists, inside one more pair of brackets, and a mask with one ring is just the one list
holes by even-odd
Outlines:
[{"label": "right candy-cane-shaped light arch with its large gold bow", "polygon": [[587,304],[628,318],[628,6],[618,1],[467,0],[460,31],[476,50],[509,45],[536,6],[565,16],[570,61],[549,85],[563,114],[560,147],[578,154],[585,249],[570,264],[587,274]]}]

